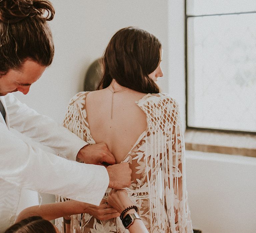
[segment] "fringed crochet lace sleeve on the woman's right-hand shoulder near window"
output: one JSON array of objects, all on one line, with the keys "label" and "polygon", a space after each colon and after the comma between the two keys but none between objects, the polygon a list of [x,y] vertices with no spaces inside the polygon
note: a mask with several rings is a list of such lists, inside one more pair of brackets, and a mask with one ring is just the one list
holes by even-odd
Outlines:
[{"label": "fringed crochet lace sleeve on the woman's right-hand shoulder near window", "polygon": [[145,159],[152,224],[161,226],[165,219],[171,232],[192,232],[187,229],[185,145],[178,105],[160,96],[145,107],[150,115]]}]

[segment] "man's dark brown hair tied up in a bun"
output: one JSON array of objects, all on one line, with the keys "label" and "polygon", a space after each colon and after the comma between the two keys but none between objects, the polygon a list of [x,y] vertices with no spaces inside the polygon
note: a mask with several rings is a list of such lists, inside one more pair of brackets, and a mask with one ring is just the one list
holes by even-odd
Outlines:
[{"label": "man's dark brown hair tied up in a bun", "polygon": [[48,0],[0,0],[0,76],[27,59],[49,66],[54,55],[47,21],[55,10]]}]

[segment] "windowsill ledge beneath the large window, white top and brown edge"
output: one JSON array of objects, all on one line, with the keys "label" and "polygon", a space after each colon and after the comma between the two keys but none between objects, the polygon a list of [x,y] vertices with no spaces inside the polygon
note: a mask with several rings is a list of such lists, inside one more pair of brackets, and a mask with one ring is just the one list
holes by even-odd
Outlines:
[{"label": "windowsill ledge beneath the large window, white top and brown edge", "polygon": [[256,157],[256,135],[187,129],[187,150]]}]

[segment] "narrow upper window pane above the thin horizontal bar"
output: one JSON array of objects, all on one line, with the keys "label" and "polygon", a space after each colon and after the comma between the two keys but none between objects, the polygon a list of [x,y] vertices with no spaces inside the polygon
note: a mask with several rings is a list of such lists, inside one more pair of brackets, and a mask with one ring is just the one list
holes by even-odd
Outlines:
[{"label": "narrow upper window pane above the thin horizontal bar", "polygon": [[256,11],[255,0],[187,0],[187,15],[210,15]]}]

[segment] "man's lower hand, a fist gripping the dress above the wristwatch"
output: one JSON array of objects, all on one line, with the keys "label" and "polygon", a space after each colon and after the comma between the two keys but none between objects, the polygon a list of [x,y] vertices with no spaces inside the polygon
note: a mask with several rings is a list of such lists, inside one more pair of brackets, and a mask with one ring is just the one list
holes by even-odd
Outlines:
[{"label": "man's lower hand, a fist gripping the dress above the wristwatch", "polygon": [[131,185],[132,170],[126,162],[114,164],[107,167],[109,176],[109,187],[122,189]]}]

